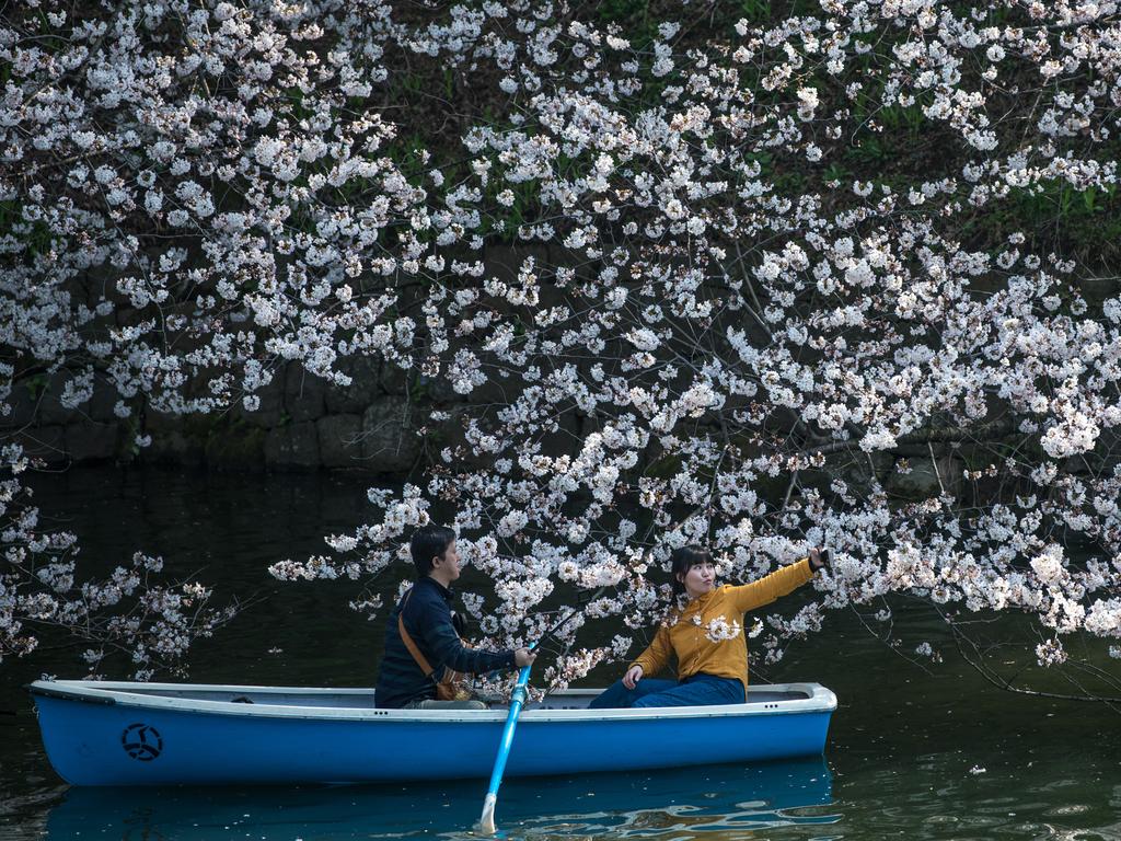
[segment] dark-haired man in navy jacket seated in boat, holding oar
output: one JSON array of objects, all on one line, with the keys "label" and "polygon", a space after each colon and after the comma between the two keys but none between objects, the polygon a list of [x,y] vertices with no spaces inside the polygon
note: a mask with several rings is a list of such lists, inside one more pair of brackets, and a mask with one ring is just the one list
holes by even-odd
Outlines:
[{"label": "dark-haired man in navy jacket seated in boat, holding oar", "polygon": [[[528,666],[537,656],[518,648],[467,648],[452,612],[452,582],[460,577],[455,533],[421,526],[409,542],[416,583],[389,614],[374,705],[383,709],[485,709],[481,701],[452,699],[451,672],[482,674]],[[443,684],[443,685],[442,685]]]}]

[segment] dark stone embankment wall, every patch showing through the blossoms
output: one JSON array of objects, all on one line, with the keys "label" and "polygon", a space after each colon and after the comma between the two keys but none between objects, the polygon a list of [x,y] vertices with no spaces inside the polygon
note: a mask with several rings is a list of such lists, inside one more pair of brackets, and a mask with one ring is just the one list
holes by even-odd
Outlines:
[{"label": "dark stone embankment wall, every patch showing through the blossoms", "polygon": [[[511,279],[529,256],[553,264],[565,261],[566,255],[553,250],[489,247],[487,272]],[[1081,281],[1081,288],[1095,306],[1115,293],[1112,281],[1093,278]],[[463,398],[443,380],[427,381],[416,371],[378,360],[349,360],[346,364],[343,370],[353,378],[346,388],[306,373],[298,363],[282,367],[258,392],[256,412],[237,405],[224,415],[176,417],[149,410],[124,419],[114,414],[118,396],[101,381],[86,405],[65,409],[58,396],[66,377],[59,373],[31,387],[15,387],[15,410],[0,418],[0,441],[16,440],[26,452],[56,468],[145,461],[232,471],[330,469],[405,474],[425,461],[438,462],[444,447],[462,443],[462,422],[469,409],[478,414],[480,404],[497,407],[508,399],[501,381]],[[448,418],[433,422],[433,410]],[[594,428],[589,418],[568,416],[559,422],[558,440],[545,442],[554,451],[571,450],[574,441]],[[150,446],[136,445],[140,433],[151,436]],[[930,453],[926,445],[900,446],[893,453],[877,454],[868,471],[826,468],[825,473],[856,483],[874,474],[900,499],[937,493],[939,480],[947,492],[958,496],[967,451],[944,445],[935,445],[935,451]],[[785,488],[776,488],[775,493],[781,499]]]}]

